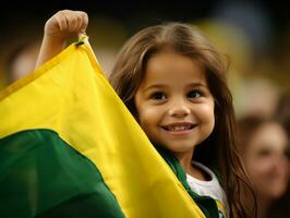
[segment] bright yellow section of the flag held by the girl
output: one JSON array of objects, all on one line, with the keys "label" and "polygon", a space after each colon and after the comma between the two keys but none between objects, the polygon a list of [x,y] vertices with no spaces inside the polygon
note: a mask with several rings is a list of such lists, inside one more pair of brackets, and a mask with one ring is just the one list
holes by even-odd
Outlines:
[{"label": "bright yellow section of the flag held by the girl", "polygon": [[[88,157],[128,218],[205,217],[109,85],[71,45],[0,93],[0,137],[50,129]],[[69,181],[68,181],[69,182]]]}]

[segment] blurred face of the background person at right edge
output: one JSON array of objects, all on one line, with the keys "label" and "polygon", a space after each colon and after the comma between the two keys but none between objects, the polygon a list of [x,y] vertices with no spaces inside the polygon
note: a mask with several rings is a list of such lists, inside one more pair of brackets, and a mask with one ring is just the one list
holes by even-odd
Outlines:
[{"label": "blurred face of the background person at right edge", "polygon": [[259,197],[279,197],[288,184],[288,137],[278,123],[261,125],[250,140],[245,165]]}]

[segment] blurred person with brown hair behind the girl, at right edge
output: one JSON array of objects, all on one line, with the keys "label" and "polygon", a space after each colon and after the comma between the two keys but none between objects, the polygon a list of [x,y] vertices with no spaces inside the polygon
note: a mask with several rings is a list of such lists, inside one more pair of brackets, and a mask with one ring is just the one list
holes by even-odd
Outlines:
[{"label": "blurred person with brown hair behind the girl, at right edge", "polygon": [[287,132],[274,119],[247,116],[239,120],[239,138],[256,192],[258,218],[277,217],[270,208],[286,193],[289,181]]}]

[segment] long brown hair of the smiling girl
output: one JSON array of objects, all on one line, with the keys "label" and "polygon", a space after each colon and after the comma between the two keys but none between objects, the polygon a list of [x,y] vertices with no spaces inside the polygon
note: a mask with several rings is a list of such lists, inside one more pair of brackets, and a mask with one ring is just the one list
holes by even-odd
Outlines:
[{"label": "long brown hair of the smiling girl", "polygon": [[217,168],[222,178],[231,217],[249,217],[241,201],[242,186],[251,190],[235,143],[232,97],[226,82],[227,66],[212,43],[195,26],[168,23],[147,27],[121,49],[110,82],[129,110],[136,116],[134,96],[149,58],[165,49],[202,63],[215,99],[216,124],[210,136],[197,145],[193,159]]}]

